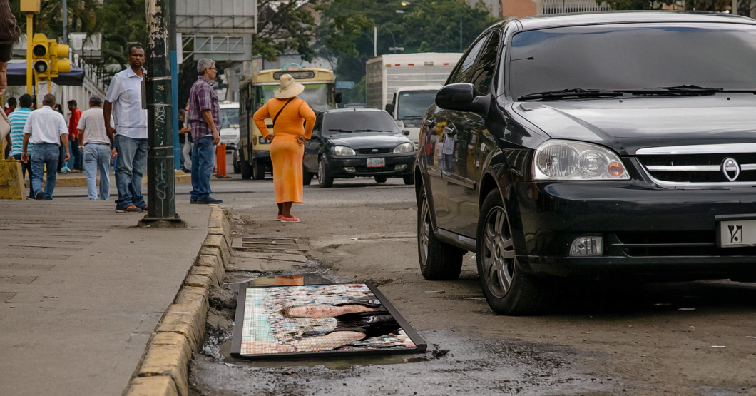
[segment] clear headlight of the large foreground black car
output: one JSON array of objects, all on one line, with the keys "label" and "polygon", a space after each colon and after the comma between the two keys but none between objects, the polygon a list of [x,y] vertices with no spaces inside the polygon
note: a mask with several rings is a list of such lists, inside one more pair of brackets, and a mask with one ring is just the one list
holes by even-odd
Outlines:
[{"label": "clear headlight of the large foreground black car", "polygon": [[577,141],[546,141],[535,150],[535,180],[629,180],[619,156]]}]

